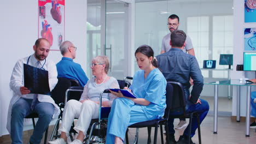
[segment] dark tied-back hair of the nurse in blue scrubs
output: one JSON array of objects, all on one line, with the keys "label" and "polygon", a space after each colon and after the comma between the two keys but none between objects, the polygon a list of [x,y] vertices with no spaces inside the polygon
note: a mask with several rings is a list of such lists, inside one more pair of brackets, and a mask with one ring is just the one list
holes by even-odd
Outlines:
[{"label": "dark tied-back hair of the nurse in blue scrubs", "polygon": [[147,56],[148,58],[153,57],[152,64],[154,67],[158,68],[158,61],[154,57],[154,51],[149,45],[141,45],[138,47],[138,49],[135,51],[136,53],[141,52],[143,55]]}]

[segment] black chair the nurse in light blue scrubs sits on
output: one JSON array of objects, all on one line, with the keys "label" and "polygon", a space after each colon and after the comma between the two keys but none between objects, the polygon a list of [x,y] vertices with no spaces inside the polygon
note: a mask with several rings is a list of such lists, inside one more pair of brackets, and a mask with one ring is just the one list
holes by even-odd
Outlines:
[{"label": "black chair the nurse in light blue scrubs sits on", "polygon": [[[138,143],[138,131],[139,128],[148,128],[148,143],[151,143],[150,140],[150,135],[151,135],[151,128],[155,128],[155,133],[154,133],[154,143],[157,143],[157,137],[158,137],[158,127],[160,126],[160,131],[161,131],[161,143],[164,144],[164,136],[163,136],[163,130],[161,125],[165,125],[166,128],[168,129],[168,118],[170,114],[170,109],[171,109],[171,104],[172,104],[172,95],[173,95],[173,87],[170,82],[167,82],[166,85],[166,109],[165,109],[165,115],[160,118],[160,119],[154,119],[152,121],[145,121],[145,122],[139,122],[130,125],[128,128],[136,128],[136,135],[135,135],[135,140],[133,143]],[[128,129],[126,131],[126,143],[129,144],[129,139],[127,135]],[[167,137],[167,143],[168,143],[168,130],[166,130],[166,137]]]}]

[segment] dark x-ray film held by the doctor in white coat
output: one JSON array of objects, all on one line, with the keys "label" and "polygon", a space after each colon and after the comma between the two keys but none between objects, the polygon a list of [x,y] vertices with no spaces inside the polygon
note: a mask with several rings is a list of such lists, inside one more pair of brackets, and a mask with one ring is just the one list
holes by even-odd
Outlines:
[{"label": "dark x-ray film held by the doctor in white coat", "polygon": [[48,71],[24,63],[24,86],[30,93],[51,95]]}]

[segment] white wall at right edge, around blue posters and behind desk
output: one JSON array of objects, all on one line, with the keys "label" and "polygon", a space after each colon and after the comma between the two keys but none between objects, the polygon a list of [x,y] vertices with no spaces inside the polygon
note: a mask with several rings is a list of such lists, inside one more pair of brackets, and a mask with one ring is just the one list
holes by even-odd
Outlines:
[{"label": "white wall at right edge, around blue posters and behind desk", "polygon": [[[256,27],[254,23],[244,23],[244,1],[234,1],[234,68],[237,64],[243,64],[243,29]],[[231,79],[240,79],[247,77],[254,79],[255,71],[231,71]],[[252,87],[252,91],[256,91],[256,87]],[[246,115],[246,87],[241,87],[241,116]],[[232,116],[236,116],[236,97],[237,87],[233,87]]]}]

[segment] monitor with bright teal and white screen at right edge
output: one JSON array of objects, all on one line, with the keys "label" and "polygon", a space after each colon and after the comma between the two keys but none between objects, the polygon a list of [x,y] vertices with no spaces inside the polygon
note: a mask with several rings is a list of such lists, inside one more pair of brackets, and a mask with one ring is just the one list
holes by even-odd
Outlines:
[{"label": "monitor with bright teal and white screen at right edge", "polygon": [[243,52],[243,70],[256,71],[256,52]]}]

